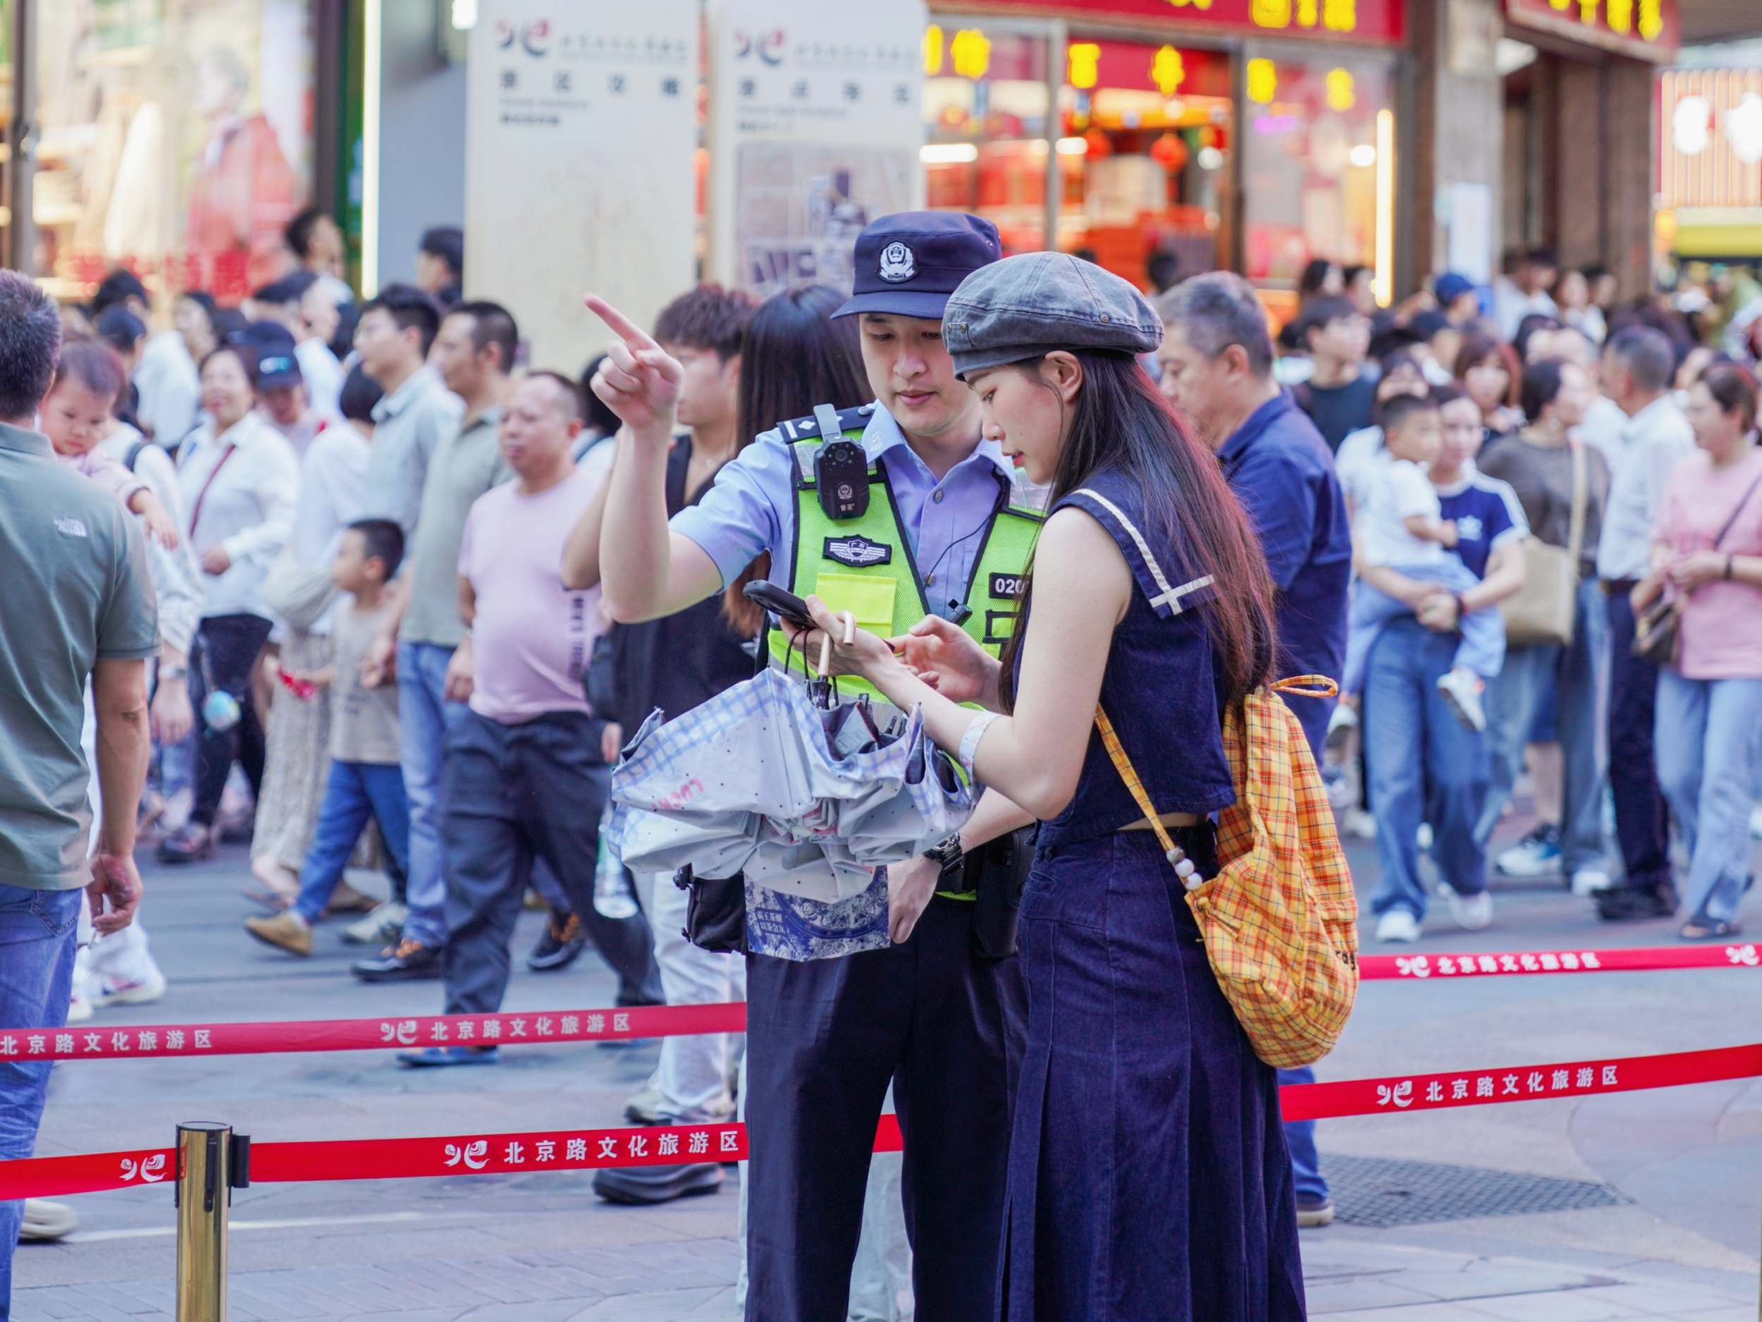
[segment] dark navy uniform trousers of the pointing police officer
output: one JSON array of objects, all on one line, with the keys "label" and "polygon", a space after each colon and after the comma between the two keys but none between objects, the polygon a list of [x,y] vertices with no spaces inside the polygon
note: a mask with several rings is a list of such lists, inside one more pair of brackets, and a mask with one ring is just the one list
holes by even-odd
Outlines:
[{"label": "dark navy uniform trousers of the pointing police officer", "polygon": [[886,950],[747,957],[749,1322],[844,1322],[890,1082],[918,1322],[994,1315],[1027,991],[971,915],[936,897]]}]

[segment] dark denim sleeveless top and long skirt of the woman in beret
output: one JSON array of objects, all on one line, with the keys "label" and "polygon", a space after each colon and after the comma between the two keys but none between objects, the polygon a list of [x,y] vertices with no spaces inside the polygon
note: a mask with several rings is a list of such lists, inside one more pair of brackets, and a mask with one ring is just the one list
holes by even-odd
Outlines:
[{"label": "dark denim sleeveless top and long skirt of the woman in beret", "polygon": [[[1230,804],[1216,665],[1195,610],[1210,589],[1193,585],[1119,474],[1059,504],[1098,518],[1133,569],[1101,705],[1151,800],[1198,814]],[[1156,836],[1119,830],[1140,818],[1091,732],[1077,797],[1041,825],[1022,895],[1029,1021],[999,1317],[1299,1322],[1277,1079],[1218,987]],[[1216,874],[1209,821],[1173,836]]]}]

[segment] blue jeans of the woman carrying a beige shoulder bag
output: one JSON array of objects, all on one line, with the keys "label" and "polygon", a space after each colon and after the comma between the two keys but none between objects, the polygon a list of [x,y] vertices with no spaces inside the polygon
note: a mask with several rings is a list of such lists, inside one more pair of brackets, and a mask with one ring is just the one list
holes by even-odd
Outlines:
[{"label": "blue jeans of the woman carrying a beige shoulder bag", "polygon": [[1554,687],[1554,730],[1565,776],[1561,784],[1559,853],[1572,876],[1603,867],[1603,783],[1609,776],[1609,606],[1596,578],[1579,583],[1572,643],[1514,647],[1505,668],[1487,680],[1487,754],[1491,781],[1475,839],[1485,846],[1510,802],[1535,714]]}]

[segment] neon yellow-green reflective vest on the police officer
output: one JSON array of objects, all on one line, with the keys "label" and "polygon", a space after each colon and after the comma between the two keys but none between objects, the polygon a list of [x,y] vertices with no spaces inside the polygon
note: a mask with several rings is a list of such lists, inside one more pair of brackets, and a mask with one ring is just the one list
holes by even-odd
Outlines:
[{"label": "neon yellow-green reflective vest on the police officer", "polygon": [[[876,405],[844,409],[839,428],[862,444],[863,428]],[[830,411],[816,411],[830,412]],[[823,444],[816,418],[796,418],[779,425],[795,455],[795,553],[789,562],[789,590],[819,596],[833,612],[848,610],[856,624],[883,638],[906,633],[930,610],[911,541],[900,525],[893,490],[886,479],[886,460],[869,462],[869,509],[858,518],[832,520],[819,506],[814,485],[814,457]],[[987,652],[997,656],[1015,628],[1020,608],[1022,576],[1034,553],[1034,539],[1045,520],[1038,509],[1020,502],[1018,488],[997,474],[997,504],[990,525],[981,534],[964,605],[971,612],[962,628]],[[788,626],[777,628],[766,615],[765,645],[774,665],[800,672],[802,654],[789,649]],[[809,663],[812,665],[812,663]],[[867,682],[849,675],[839,679],[840,702],[867,693],[886,702]]]}]

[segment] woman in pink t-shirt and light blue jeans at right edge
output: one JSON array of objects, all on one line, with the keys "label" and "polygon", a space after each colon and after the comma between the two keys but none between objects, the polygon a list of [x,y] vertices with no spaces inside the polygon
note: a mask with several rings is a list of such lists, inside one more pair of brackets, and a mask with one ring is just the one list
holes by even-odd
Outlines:
[{"label": "woman in pink t-shirt and light blue jeans at right edge", "polygon": [[1633,610],[1653,622],[1653,645],[1662,652],[1653,737],[1658,783],[1690,853],[1684,899],[1692,917],[1683,940],[1723,941],[1739,931],[1762,754],[1755,377],[1736,365],[1709,368],[1688,397],[1688,421],[1699,453],[1670,471],[1653,529],[1653,573],[1633,589]]}]

